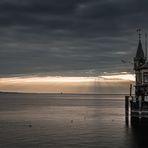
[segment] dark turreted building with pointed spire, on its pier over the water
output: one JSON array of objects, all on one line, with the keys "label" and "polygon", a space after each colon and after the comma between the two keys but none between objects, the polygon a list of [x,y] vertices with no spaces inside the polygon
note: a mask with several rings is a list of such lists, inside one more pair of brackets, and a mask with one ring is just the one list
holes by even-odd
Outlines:
[{"label": "dark turreted building with pointed spire, on its pier over the water", "polygon": [[[139,32],[139,43],[134,57],[135,95],[132,96],[130,91],[130,96],[126,96],[126,100],[130,102],[131,118],[148,118],[148,62],[146,52],[144,54]],[[127,106],[128,103],[126,103],[126,108]]]}]

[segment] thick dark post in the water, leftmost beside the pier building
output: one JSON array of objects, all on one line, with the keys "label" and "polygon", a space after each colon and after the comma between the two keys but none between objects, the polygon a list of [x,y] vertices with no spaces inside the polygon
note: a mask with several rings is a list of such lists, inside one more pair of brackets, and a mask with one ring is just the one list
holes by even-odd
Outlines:
[{"label": "thick dark post in the water, leftmost beside the pier building", "polygon": [[125,122],[128,126],[129,123],[129,96],[125,96]]}]

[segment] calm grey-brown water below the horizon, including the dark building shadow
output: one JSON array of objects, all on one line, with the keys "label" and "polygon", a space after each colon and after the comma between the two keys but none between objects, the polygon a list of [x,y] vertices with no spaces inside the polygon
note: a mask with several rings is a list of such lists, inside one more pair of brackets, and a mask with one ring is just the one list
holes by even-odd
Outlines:
[{"label": "calm grey-brown water below the horizon, including the dark building shadow", "polygon": [[0,148],[144,148],[147,128],[122,95],[0,94]]}]

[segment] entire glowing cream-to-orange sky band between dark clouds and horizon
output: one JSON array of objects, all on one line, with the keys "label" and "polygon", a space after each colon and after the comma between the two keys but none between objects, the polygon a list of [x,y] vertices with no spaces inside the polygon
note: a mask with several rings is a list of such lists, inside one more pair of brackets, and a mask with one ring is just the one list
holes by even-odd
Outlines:
[{"label": "entire glowing cream-to-orange sky band between dark clouds and horizon", "polygon": [[124,93],[132,74],[112,74],[98,77],[9,77],[0,78],[0,91],[39,93]]}]

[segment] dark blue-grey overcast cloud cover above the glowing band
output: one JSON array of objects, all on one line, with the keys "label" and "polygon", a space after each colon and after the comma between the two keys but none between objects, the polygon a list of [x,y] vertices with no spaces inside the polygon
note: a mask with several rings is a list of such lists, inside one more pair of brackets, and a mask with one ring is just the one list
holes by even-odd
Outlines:
[{"label": "dark blue-grey overcast cloud cover above the glowing band", "polygon": [[0,0],[0,76],[131,71],[147,0]]}]

